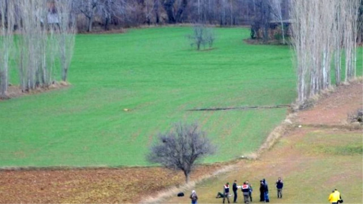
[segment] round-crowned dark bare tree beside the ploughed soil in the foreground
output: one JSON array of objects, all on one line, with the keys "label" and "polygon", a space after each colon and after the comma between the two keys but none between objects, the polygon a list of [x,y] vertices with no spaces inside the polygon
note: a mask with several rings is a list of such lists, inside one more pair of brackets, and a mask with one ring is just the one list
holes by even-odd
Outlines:
[{"label": "round-crowned dark bare tree beside the ploughed soil in the foreground", "polygon": [[173,131],[159,135],[158,143],[151,147],[147,159],[151,163],[183,171],[188,183],[195,163],[214,152],[215,147],[196,123],[179,123]]}]

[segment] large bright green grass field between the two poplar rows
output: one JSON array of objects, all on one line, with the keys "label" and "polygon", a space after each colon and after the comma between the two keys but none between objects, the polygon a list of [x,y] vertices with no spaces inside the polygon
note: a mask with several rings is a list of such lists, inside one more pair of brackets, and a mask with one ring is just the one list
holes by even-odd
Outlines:
[{"label": "large bright green grass field between the two poplar rows", "polygon": [[205,162],[256,150],[285,109],[186,110],[291,103],[291,51],[245,44],[248,29],[215,31],[203,52],[185,38],[191,28],[78,35],[71,87],[0,102],[0,165],[144,166],[158,132],[181,120],[199,121],[219,145]]}]

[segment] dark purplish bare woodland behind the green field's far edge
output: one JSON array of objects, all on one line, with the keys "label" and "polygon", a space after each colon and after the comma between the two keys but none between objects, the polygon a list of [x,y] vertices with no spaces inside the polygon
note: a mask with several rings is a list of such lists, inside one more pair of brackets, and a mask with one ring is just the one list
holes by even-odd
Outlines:
[{"label": "dark purplish bare woodland behind the green field's far edge", "polygon": [[72,0],[72,12],[78,30],[88,32],[94,25],[104,30],[176,23],[260,25],[262,20],[275,18],[271,17],[276,11],[270,9],[273,2],[278,3],[280,16],[287,17],[289,0]]}]

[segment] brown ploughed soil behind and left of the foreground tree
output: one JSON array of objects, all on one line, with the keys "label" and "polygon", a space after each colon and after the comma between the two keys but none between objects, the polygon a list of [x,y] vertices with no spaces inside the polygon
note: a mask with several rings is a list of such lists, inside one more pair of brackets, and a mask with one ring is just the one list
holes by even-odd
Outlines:
[{"label": "brown ploughed soil behind and left of the foreground tree", "polygon": [[[198,179],[221,164],[198,166]],[[184,175],[160,167],[0,172],[0,203],[137,203]]]}]

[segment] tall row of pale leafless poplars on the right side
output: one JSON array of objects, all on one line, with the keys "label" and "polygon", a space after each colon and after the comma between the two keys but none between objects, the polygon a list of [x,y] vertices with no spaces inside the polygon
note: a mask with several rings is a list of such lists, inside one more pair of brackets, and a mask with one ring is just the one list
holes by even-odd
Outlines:
[{"label": "tall row of pale leafless poplars on the right side", "polygon": [[342,76],[355,78],[360,6],[360,0],[291,0],[298,103],[329,88],[333,74],[337,86]]}]

